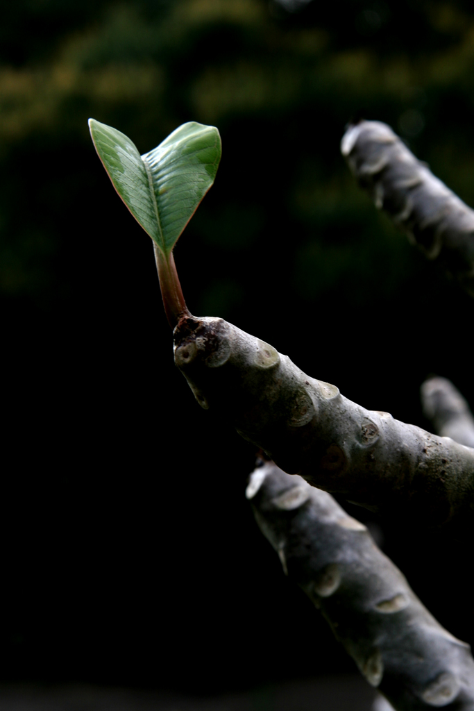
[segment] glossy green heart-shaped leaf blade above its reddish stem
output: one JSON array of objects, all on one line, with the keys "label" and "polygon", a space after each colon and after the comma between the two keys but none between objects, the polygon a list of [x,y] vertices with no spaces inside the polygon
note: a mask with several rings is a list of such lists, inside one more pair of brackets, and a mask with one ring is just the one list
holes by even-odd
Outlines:
[{"label": "glossy green heart-shaped leaf blade above its reddish stem", "polygon": [[141,156],[117,129],[95,119],[89,119],[89,127],[117,193],[163,255],[169,255],[214,182],[221,154],[218,130],[183,124]]}]

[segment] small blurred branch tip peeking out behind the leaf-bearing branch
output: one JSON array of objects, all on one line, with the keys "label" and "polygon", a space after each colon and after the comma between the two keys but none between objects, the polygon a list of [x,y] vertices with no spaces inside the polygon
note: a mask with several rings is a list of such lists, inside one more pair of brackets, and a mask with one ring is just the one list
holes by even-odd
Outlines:
[{"label": "small blurred branch tip peeking out behind the leaf-bearing branch", "polygon": [[474,417],[469,405],[446,378],[428,378],[421,385],[424,415],[442,437],[474,447]]}]

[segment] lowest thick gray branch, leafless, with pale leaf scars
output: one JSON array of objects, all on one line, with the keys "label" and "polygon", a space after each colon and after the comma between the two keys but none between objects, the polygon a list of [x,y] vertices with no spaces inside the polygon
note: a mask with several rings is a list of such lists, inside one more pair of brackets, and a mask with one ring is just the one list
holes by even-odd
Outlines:
[{"label": "lowest thick gray branch, leafless, with pale leaf scars", "polygon": [[247,498],[284,571],[395,709],[474,710],[469,645],[438,624],[362,523],[273,463],[254,471]]}]

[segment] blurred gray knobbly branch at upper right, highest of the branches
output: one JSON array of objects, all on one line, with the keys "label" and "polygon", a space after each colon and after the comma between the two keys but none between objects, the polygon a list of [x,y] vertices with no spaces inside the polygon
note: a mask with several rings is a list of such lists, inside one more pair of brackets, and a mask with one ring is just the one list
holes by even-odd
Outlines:
[{"label": "blurred gray knobbly branch at upper right, highest of the branches", "polygon": [[474,211],[379,121],[348,128],[341,151],[377,208],[431,260],[442,262],[474,296]]}]

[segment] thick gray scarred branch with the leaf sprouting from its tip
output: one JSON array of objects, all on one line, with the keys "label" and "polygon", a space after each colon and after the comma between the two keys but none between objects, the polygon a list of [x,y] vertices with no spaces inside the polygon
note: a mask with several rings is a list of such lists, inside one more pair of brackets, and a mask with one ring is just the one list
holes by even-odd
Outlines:
[{"label": "thick gray scarred branch with the leaf sprouting from its tip", "polygon": [[183,318],[174,336],[200,405],[284,471],[371,510],[471,532],[474,449],[365,410],[222,319]]}]

